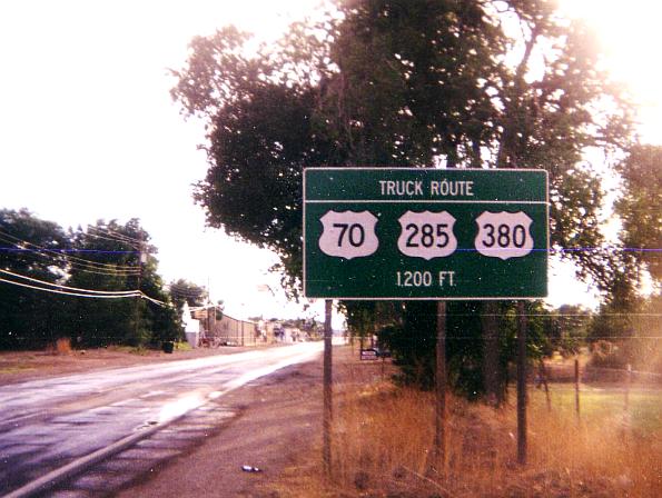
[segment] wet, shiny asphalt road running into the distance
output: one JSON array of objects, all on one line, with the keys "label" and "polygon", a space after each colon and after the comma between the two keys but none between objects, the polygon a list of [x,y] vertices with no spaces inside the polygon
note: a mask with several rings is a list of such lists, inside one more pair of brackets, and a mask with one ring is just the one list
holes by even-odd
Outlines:
[{"label": "wet, shiny asphalt road running into the distance", "polygon": [[322,349],[305,342],[0,387],[0,496]]}]

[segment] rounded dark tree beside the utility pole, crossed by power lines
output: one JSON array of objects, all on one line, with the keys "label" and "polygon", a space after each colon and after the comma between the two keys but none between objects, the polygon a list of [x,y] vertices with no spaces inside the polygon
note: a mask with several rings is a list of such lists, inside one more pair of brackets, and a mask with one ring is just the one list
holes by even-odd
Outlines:
[{"label": "rounded dark tree beside the utility pole, crossed by power lines", "polygon": [[[73,260],[68,283],[93,290],[140,290],[169,305],[157,273],[156,248],[137,219],[125,225],[99,220],[71,233],[72,246],[86,255]],[[180,335],[175,308],[134,297],[127,299],[78,298],[70,320],[71,337],[88,346],[146,345]]]}]

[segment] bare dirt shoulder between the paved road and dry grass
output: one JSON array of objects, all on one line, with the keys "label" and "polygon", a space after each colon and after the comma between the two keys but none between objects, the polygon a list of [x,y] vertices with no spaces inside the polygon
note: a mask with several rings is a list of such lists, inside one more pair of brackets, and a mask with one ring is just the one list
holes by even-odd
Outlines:
[{"label": "bare dirt shoulder between the paved road and dry grass", "polygon": [[[360,362],[348,347],[334,348],[334,385],[379,381],[389,365]],[[158,475],[122,491],[120,497],[255,497],[292,496],[288,476],[302,478],[307,462],[320,462],[322,359],[286,368],[238,389],[224,401],[241,415],[192,454],[175,459]],[[337,392],[338,397],[342,392]],[[313,465],[317,465],[313,464]],[[246,472],[243,466],[260,471]],[[317,486],[312,481],[313,486]],[[297,488],[302,488],[299,481]],[[320,496],[317,489],[305,490]]]}]

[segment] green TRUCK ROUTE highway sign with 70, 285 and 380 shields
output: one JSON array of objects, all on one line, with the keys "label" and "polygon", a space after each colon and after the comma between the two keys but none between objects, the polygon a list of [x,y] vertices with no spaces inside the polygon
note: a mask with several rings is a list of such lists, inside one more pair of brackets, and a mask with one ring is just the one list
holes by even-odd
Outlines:
[{"label": "green TRUCK ROUTE highway sign with 70, 285 and 380 shields", "polygon": [[304,295],[547,295],[547,175],[525,169],[307,168]]}]

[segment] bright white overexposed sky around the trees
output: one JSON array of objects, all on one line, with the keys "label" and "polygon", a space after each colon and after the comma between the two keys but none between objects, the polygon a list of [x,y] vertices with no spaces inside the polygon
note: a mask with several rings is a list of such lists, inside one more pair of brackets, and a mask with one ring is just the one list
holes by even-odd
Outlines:
[{"label": "bright white overexposed sky around the trees", "polygon": [[[234,316],[299,315],[267,272],[273,255],[205,229],[191,200],[191,185],[207,169],[196,150],[204,131],[171,102],[167,68],[181,68],[196,34],[234,23],[274,39],[318,2],[0,2],[0,207],[26,207],[65,228],[140,218],[166,281],[209,283]],[[611,53],[606,63],[645,106],[644,137],[661,142],[661,70],[652,54],[662,46],[662,2],[631,0],[626,10],[616,0],[563,3],[595,24]],[[585,285],[559,265],[552,272],[552,303],[586,302]],[[275,298],[258,291],[263,283]]]}]

